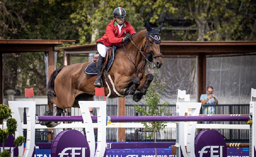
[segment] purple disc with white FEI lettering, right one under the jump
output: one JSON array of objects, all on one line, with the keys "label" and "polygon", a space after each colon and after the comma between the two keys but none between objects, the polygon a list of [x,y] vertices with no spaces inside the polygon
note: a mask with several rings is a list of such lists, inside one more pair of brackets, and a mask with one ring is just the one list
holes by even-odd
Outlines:
[{"label": "purple disc with white FEI lettering, right one under the jump", "polygon": [[226,157],[226,142],[218,131],[202,130],[195,137],[195,153],[196,157]]}]

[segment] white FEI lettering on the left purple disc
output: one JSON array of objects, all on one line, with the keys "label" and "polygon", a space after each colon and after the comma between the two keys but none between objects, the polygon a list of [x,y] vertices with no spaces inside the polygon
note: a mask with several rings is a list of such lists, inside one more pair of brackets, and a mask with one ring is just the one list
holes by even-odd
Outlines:
[{"label": "white FEI lettering on the left purple disc", "polygon": [[[71,150],[71,153],[70,153],[70,150]],[[58,153],[59,157],[70,157],[69,154],[71,155],[71,157],[75,157],[76,155],[80,155],[80,157],[85,157],[85,148],[68,147],[63,149],[61,153]]]}]

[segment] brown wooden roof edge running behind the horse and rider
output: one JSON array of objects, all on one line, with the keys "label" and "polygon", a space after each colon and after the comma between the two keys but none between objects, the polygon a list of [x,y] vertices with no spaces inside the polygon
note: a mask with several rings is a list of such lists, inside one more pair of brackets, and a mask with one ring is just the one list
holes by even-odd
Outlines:
[{"label": "brown wooden roof edge running behind the horse and rider", "polygon": [[[163,55],[225,55],[256,52],[256,41],[161,41]],[[96,44],[56,47],[64,51],[96,51]]]}]

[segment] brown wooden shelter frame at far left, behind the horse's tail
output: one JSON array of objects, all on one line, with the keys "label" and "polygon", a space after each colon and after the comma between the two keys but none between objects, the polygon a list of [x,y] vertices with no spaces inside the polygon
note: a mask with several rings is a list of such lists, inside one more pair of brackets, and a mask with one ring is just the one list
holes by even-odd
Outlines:
[{"label": "brown wooden shelter frame at far left, behind the horse's tail", "polygon": [[[54,47],[75,40],[0,40],[0,82],[3,82],[3,53],[48,52],[48,76],[54,71]],[[3,103],[3,85],[0,100]]]}]

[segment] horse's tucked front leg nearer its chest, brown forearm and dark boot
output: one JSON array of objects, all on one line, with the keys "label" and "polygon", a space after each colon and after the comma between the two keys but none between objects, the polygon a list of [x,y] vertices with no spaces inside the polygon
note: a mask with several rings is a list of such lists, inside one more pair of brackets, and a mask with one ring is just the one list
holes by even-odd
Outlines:
[{"label": "horse's tucked front leg nearer its chest, brown forearm and dark boot", "polygon": [[117,90],[122,95],[134,95],[140,84],[139,77],[120,77],[119,81],[116,82],[116,86],[119,88]]}]

